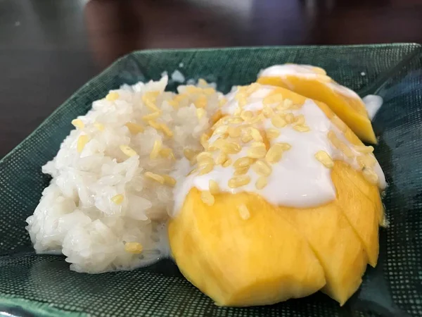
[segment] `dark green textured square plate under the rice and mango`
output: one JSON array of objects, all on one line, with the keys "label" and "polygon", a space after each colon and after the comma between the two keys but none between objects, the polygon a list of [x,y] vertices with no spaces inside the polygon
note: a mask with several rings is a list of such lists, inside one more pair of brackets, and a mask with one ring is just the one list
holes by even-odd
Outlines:
[{"label": "dark green textured square plate under the rice and mango", "polygon": [[[124,82],[172,73],[179,63],[186,78],[204,77],[227,92],[254,81],[261,68],[287,62],[320,66],[361,95],[377,92],[385,100],[374,126],[376,156],[390,182],[390,227],[381,230],[378,266],[345,306],[318,293],[273,306],[218,307],[172,261],[87,275],[70,271],[62,256],[34,254],[25,219],[49,182],[41,166],[92,101]],[[422,316],[421,66],[418,44],[158,50],[120,58],[0,161],[0,316]]]}]

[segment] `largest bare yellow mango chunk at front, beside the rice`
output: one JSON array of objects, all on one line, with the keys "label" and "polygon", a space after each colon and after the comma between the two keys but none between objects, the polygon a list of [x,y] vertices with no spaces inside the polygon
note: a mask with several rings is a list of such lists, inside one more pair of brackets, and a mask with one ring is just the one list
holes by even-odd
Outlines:
[{"label": "largest bare yellow mango chunk at front, beside the rice", "polygon": [[[241,204],[248,220],[241,218]],[[326,283],[305,237],[255,194],[218,194],[207,206],[191,189],[169,235],[181,273],[219,305],[274,304]]]}]

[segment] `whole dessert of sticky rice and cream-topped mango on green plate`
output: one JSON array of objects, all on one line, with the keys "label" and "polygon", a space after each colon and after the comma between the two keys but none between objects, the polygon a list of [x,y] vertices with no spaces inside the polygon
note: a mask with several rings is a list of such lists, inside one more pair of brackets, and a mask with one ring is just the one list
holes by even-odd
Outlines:
[{"label": "whole dessert of sticky rice and cream-topped mango on green plate", "polygon": [[[166,85],[123,85],[72,120],[27,218],[37,253],[84,273],[172,256],[219,305],[319,290],[344,304],[384,220],[362,100],[313,66],[267,68],[225,96]],[[368,101],[372,116],[382,101]]]}]

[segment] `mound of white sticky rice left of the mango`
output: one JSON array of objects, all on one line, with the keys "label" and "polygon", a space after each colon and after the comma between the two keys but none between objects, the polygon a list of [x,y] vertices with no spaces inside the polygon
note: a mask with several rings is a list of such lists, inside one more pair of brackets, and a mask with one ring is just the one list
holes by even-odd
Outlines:
[{"label": "mound of white sticky rice left of the mango", "polygon": [[[118,94],[116,100],[94,101],[87,115],[78,117],[83,127],[72,130],[57,156],[42,168],[53,179],[33,216],[27,218],[37,253],[62,253],[72,270],[86,273],[128,270],[166,256],[165,223],[173,208],[172,187],[144,173],[183,180],[186,172],[175,168],[175,163],[186,161],[184,149],[201,149],[200,135],[210,128],[210,118],[224,98],[211,88],[179,86],[179,94],[185,97],[174,99],[177,94],[165,92],[166,85],[167,76],[158,82],[124,85],[111,91]],[[207,87],[204,82],[199,86]],[[159,92],[155,105],[161,114],[155,123],[167,125],[172,137],[142,119],[153,112],[143,101],[146,92]],[[204,111],[195,105],[198,98],[206,99]],[[131,133],[128,122],[145,130]],[[79,153],[81,135],[89,141]],[[174,158],[151,159],[156,140],[172,149]],[[121,145],[137,155],[125,155]],[[119,194],[123,200],[116,204],[112,198]],[[125,251],[127,242],[140,243],[143,252]]]}]

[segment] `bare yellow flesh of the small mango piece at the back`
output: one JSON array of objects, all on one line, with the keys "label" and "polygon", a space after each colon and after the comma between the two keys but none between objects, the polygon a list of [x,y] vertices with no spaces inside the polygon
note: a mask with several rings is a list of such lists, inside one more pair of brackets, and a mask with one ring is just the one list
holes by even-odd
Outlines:
[{"label": "bare yellow flesh of the small mango piece at the back", "polygon": [[376,144],[376,136],[372,129],[371,120],[368,118],[362,100],[335,92],[327,85],[326,80],[285,75],[283,78],[260,77],[257,82],[262,85],[273,85],[290,89],[305,97],[324,102],[360,139],[364,142]]}]

